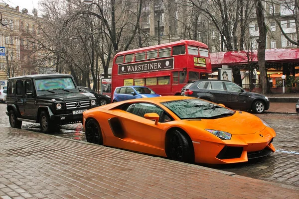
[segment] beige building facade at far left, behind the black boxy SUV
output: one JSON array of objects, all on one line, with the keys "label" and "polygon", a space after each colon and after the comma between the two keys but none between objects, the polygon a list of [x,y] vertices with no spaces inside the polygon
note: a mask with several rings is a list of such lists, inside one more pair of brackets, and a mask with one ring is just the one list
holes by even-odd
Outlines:
[{"label": "beige building facade at far left, behind the black boxy SUV", "polygon": [[0,56],[1,84],[9,77],[37,73],[33,56],[36,45],[30,39],[39,34],[36,9],[32,13],[0,2],[0,47],[5,50]]}]

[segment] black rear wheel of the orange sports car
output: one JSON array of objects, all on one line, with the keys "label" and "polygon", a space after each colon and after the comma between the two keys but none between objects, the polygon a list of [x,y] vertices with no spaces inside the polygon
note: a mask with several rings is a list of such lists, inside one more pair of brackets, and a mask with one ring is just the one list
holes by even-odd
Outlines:
[{"label": "black rear wheel of the orange sports car", "polygon": [[97,120],[88,120],[85,127],[85,137],[87,142],[103,145],[102,131]]}]

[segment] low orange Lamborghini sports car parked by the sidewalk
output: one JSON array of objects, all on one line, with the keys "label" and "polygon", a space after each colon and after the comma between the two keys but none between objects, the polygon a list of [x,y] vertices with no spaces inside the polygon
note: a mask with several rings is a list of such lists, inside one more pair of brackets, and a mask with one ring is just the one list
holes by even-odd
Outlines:
[{"label": "low orange Lamborghini sports car parked by the sidewalk", "polygon": [[188,163],[269,155],[275,131],[259,117],[181,96],[127,100],[83,112],[88,142]]}]

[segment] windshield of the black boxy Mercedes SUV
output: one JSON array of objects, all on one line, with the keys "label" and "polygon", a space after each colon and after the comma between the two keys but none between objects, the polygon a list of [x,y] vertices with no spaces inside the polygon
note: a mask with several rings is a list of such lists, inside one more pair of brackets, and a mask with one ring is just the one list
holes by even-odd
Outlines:
[{"label": "windshield of the black boxy Mercedes SUV", "polygon": [[70,77],[51,78],[51,79],[36,79],[37,91],[48,91],[55,89],[75,89],[76,86]]}]

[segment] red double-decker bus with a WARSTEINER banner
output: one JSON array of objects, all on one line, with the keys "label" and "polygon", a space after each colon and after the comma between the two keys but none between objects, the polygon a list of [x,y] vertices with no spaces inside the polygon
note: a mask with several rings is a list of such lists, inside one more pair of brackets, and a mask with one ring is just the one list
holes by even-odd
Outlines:
[{"label": "red double-decker bus with a WARSTEINER banner", "polygon": [[120,86],[146,86],[162,96],[180,95],[189,80],[208,79],[211,72],[208,46],[199,41],[128,50],[114,57],[112,92]]}]

